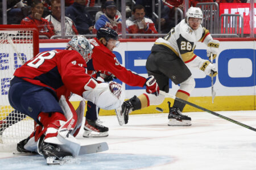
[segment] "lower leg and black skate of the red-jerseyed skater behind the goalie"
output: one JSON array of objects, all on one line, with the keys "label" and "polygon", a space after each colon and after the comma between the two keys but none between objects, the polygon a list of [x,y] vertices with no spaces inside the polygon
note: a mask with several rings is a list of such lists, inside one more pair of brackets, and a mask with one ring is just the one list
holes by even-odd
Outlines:
[{"label": "lower leg and black skate of the red-jerseyed skater behind the goalie", "polygon": [[100,108],[91,101],[87,102],[87,111],[85,116],[84,134],[82,137],[107,137],[109,128],[98,122],[98,113]]}]

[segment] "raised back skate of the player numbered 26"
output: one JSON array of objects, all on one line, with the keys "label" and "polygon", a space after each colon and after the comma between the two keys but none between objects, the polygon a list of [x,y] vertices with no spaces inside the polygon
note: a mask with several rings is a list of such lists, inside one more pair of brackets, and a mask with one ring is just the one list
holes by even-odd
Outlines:
[{"label": "raised back skate of the player numbered 26", "polygon": [[115,109],[115,114],[117,114],[117,120],[120,126],[128,123],[129,114],[133,111],[133,105],[130,100],[123,101],[121,108]]}]

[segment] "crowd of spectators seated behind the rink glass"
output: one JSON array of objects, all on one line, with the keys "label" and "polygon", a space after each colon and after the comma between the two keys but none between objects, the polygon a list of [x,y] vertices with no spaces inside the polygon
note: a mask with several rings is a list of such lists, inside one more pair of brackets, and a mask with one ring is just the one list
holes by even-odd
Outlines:
[{"label": "crowd of spectators seated behind the rink glass", "polygon": [[[117,0],[65,0],[65,35],[95,34],[101,27],[111,27],[122,33],[121,2]],[[126,0],[126,33],[168,33],[175,27],[176,8],[184,10],[184,0],[155,0],[155,13],[158,5],[161,18],[153,16],[152,1]],[[247,0],[189,0],[189,6],[200,2],[246,3]],[[93,9],[93,10],[91,10]],[[0,22],[2,23],[2,2],[0,2]],[[161,32],[158,32],[160,20]],[[51,38],[61,35],[61,1],[60,0],[8,0],[7,24],[34,24],[39,28],[40,35]]]}]

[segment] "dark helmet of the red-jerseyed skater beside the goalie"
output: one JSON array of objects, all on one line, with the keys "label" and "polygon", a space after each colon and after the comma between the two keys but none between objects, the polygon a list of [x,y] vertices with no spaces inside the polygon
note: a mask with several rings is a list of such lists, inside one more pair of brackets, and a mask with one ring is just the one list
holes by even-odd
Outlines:
[{"label": "dark helmet of the red-jerseyed skater beside the goalie", "polygon": [[96,37],[98,40],[101,38],[104,38],[106,41],[109,41],[110,39],[118,40],[118,33],[112,28],[102,27],[98,29]]}]

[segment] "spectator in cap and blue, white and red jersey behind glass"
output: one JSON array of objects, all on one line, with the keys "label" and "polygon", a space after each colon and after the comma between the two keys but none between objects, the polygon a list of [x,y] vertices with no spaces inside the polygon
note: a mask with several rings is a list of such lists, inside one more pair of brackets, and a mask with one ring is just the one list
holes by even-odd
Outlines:
[{"label": "spectator in cap and blue, white and red jersey behind glass", "polygon": [[104,15],[101,15],[95,24],[94,32],[102,27],[109,27],[117,31],[118,33],[122,32],[122,20],[116,15],[117,6],[115,6],[114,1],[106,1],[104,3],[103,9]]}]

